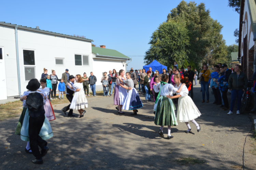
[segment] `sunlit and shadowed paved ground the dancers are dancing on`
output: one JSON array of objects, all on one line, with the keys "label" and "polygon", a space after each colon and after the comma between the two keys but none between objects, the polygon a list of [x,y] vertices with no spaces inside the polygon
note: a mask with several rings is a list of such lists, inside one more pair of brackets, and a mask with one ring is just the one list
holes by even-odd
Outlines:
[{"label": "sunlit and shadowed paved ground the dancers are dancing on", "polygon": [[[216,170],[243,165],[245,137],[253,123],[248,114],[227,115],[228,111],[212,104],[213,95],[210,103],[201,103],[200,87],[194,86],[194,102],[202,114],[196,119],[201,132],[190,123],[191,133],[186,134],[187,126],[179,123],[171,129],[174,138],[167,140],[159,136],[159,126],[154,124],[154,103],[145,103],[141,92],[140,97],[144,105],[137,116],[131,116],[132,111],[118,115],[113,97],[88,97],[89,108],[83,118],[64,115],[60,109],[68,103],[53,105],[56,120],[50,123],[54,137],[47,140],[50,150],[42,165],[32,163],[34,156],[25,152],[26,142],[14,135],[19,117],[1,121],[0,169]],[[167,127],[163,133],[167,137]],[[247,170],[256,169],[251,137],[249,133],[244,151]],[[188,157],[204,162],[175,162]]]}]

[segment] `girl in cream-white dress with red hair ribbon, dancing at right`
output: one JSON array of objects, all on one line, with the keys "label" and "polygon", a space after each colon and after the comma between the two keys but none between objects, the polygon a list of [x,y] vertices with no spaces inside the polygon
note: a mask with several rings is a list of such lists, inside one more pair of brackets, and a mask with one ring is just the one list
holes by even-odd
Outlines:
[{"label": "girl in cream-white dress with red hair ribbon, dancing at right", "polygon": [[[179,98],[177,121],[186,123],[188,127],[186,133],[189,133],[191,131],[191,127],[188,123],[189,121],[193,122],[197,127],[197,132],[200,132],[200,125],[194,119],[198,118],[201,115],[201,113],[199,112],[193,100],[188,96],[188,91],[190,90],[191,82],[188,81],[187,77],[182,77],[180,74],[174,75],[174,82],[176,83],[175,88],[182,88],[180,92],[176,91],[176,96],[168,96],[168,98],[170,99]],[[189,87],[182,87],[182,83],[189,85]]]}]

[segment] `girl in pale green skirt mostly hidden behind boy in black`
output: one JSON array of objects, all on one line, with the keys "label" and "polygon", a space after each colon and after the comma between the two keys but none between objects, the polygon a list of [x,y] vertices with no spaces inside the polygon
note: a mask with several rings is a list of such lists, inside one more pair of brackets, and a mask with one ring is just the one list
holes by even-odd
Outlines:
[{"label": "girl in pale green skirt mostly hidden behind boy in black", "polygon": [[[39,85],[40,87],[40,85]],[[29,127],[29,113],[28,113],[28,105],[26,104],[26,99],[27,96],[30,94],[30,92],[36,92],[37,89],[35,89],[34,91],[25,91],[23,93],[23,96],[20,97],[20,101],[23,102],[23,111],[22,111],[22,115],[20,116],[18,125],[17,125],[17,129],[15,131],[16,135],[20,135],[20,138],[24,141],[27,141],[27,146],[25,148],[25,151],[27,153],[31,153],[32,151],[30,149],[30,144],[29,144],[29,135],[28,135],[28,127]],[[38,93],[41,93],[43,98],[44,98],[44,104],[45,104],[45,99],[46,96],[45,94],[43,94],[42,92],[37,91]],[[25,113],[24,113],[25,112]],[[51,137],[53,137],[53,131],[51,128],[51,125],[49,123],[49,121],[47,120],[46,116],[44,119],[44,123],[43,126],[40,130],[39,136],[43,139],[43,140],[47,140]]]}]

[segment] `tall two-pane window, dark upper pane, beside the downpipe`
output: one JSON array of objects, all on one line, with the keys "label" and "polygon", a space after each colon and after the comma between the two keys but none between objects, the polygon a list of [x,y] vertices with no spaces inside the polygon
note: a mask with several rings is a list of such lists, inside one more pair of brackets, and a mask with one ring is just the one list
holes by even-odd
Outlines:
[{"label": "tall two-pane window, dark upper pane, beside the downpipe", "polygon": [[23,50],[23,63],[25,81],[35,79],[35,52],[33,50]]}]

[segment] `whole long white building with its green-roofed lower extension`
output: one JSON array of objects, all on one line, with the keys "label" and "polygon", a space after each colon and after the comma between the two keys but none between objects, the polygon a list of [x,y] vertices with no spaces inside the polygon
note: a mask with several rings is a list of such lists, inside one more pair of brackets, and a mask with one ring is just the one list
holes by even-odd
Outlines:
[{"label": "whole long white building with its green-roofed lower extension", "polygon": [[93,71],[98,79],[96,89],[102,89],[102,73],[126,70],[131,59],[115,50],[107,55],[110,49],[92,47],[91,41],[0,22],[0,100],[22,95],[30,79],[40,80],[43,68],[48,74],[55,70],[59,79],[65,69],[73,75],[86,72],[88,77]]}]

